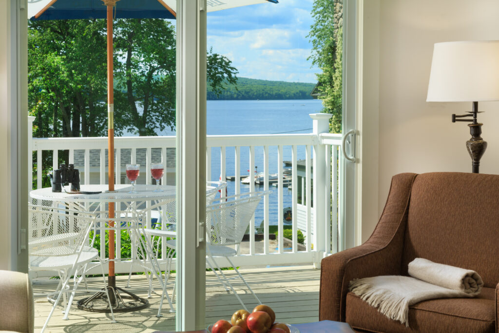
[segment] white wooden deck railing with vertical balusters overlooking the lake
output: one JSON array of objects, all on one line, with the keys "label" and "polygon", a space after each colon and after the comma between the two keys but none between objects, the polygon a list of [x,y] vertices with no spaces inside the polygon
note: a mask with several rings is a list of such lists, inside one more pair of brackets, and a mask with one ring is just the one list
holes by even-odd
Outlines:
[{"label": "white wooden deck railing with vertical balusters overlooking the lake", "polygon": [[[263,160],[264,185],[263,189],[269,189],[269,149],[277,150],[277,165],[272,169],[277,169],[278,182],[276,188],[271,188],[277,191],[278,204],[277,209],[269,209],[268,197],[263,200],[263,251],[257,253],[255,249],[255,236],[250,232],[250,253],[238,255],[234,262],[237,266],[248,265],[278,265],[278,264],[297,264],[297,263],[314,263],[316,266],[320,265],[320,260],[330,253],[335,253],[343,249],[341,243],[342,227],[338,218],[341,212],[338,209],[341,207],[339,200],[341,196],[338,193],[338,179],[341,179],[339,174],[338,161],[338,148],[341,145],[341,135],[329,134],[328,119],[329,115],[314,114],[311,115],[313,119],[313,132],[309,134],[287,134],[287,135],[209,135],[207,138],[207,175],[212,175],[213,172],[220,171],[221,179],[226,178],[227,170],[227,152],[234,150],[234,170],[235,170],[235,192],[240,193],[241,182],[240,179],[245,175],[241,175],[240,170],[248,168],[254,170],[255,158]],[[30,117],[30,125],[34,117]],[[29,138],[29,149],[36,152],[36,160],[42,161],[42,152],[49,151],[52,155],[53,168],[58,168],[57,160],[58,154],[61,150],[68,150],[69,163],[74,163],[75,150],[84,151],[84,165],[83,169],[80,167],[81,184],[91,184],[89,177],[91,170],[90,167],[90,150],[100,150],[100,162],[98,171],[100,184],[105,184],[106,177],[106,164],[105,154],[107,150],[107,137],[94,137],[94,138]],[[146,172],[146,183],[151,183],[150,164],[151,164],[151,150],[161,149],[161,160],[163,163],[167,161],[167,148],[174,148],[176,139],[174,136],[155,136],[155,137],[116,137],[115,138],[115,165],[116,165],[116,180],[119,184],[121,182],[121,175],[124,173],[121,168],[121,160],[125,156],[123,150],[130,154],[131,163],[136,162],[137,149],[146,149],[146,165],[141,168]],[[291,188],[292,188],[292,216],[302,216],[305,220],[301,225],[305,226],[303,234],[305,236],[305,249],[299,250],[297,243],[297,218],[292,219],[292,250],[284,252],[283,240],[283,149],[291,150]],[[241,150],[243,147],[249,147],[249,165],[241,165]],[[263,149],[259,148],[262,147]],[[305,152],[305,177],[303,180],[304,189],[302,193],[305,199],[302,205],[299,206],[300,213],[298,214],[298,168],[297,168],[297,150],[304,149]],[[303,148],[304,147],[304,148]],[[217,149],[212,149],[217,148]],[[257,149],[255,149],[257,148]],[[248,148],[244,148],[247,150]],[[212,151],[216,151],[220,156],[214,156]],[[256,156],[256,151],[262,156]],[[212,159],[220,158],[220,170],[211,170]],[[156,162],[156,161],[155,161]],[[36,164],[36,163],[34,163]],[[29,186],[32,189],[32,167],[34,166],[31,154],[29,155]],[[36,165],[36,186],[42,186],[42,165]],[[313,170],[313,171],[312,171]],[[92,171],[93,172],[93,171]],[[312,176],[313,174],[313,176]],[[232,176],[232,175],[231,175]],[[166,182],[166,173],[163,182]],[[208,176],[209,178],[210,176]],[[255,190],[255,184],[250,182],[250,191]],[[229,193],[231,195],[231,193]],[[313,198],[313,207],[311,200]],[[271,216],[277,215],[278,223],[278,250],[275,253],[269,252],[269,236],[268,226]],[[254,230],[254,217],[250,223],[250,230]],[[119,232],[116,235],[120,235]],[[119,254],[119,252],[117,252]],[[116,266],[117,272],[128,272],[130,262],[117,258],[118,263]]]}]

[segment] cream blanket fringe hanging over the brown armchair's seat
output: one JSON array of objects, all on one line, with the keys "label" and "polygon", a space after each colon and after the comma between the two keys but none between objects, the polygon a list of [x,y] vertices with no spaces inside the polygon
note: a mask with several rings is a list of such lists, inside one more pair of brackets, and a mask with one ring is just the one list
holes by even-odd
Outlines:
[{"label": "cream blanket fringe hanging over the brown armchair's seat", "polygon": [[409,327],[409,299],[400,298],[387,289],[373,289],[372,284],[357,279],[350,282],[349,289],[370,306],[390,319],[396,320]]}]

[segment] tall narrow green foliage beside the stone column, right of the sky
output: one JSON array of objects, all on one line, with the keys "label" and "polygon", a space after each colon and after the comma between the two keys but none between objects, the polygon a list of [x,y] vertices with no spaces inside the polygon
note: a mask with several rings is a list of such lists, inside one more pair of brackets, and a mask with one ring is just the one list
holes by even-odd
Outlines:
[{"label": "tall narrow green foliage beside the stone column, right of the sky", "polygon": [[342,1],[314,0],[313,24],[308,38],[312,43],[309,59],[322,72],[317,74],[317,89],[324,106],[323,112],[331,113],[329,128],[341,132],[342,121]]}]

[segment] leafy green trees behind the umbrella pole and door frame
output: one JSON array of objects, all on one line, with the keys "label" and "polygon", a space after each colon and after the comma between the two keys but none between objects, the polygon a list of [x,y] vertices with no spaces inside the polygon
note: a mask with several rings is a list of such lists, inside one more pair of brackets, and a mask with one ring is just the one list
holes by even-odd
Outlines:
[{"label": "leafy green trees behind the umbrella pole and door frame", "polygon": [[[175,28],[163,19],[116,19],[115,133],[156,135],[175,126]],[[236,84],[227,57],[208,52],[216,94]],[[28,103],[34,137],[107,135],[106,21],[30,21]]]}]

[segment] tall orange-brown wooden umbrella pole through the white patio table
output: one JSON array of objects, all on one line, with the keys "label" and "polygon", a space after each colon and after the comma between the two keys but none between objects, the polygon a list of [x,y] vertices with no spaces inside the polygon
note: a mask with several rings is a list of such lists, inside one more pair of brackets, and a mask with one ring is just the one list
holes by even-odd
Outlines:
[{"label": "tall orange-brown wooden umbrella pole through the white patio table", "polygon": [[[114,96],[113,96],[113,7],[116,0],[106,0],[107,6],[107,156],[109,191],[114,191]],[[109,227],[114,227],[114,202],[109,202]],[[116,287],[114,275],[114,230],[109,230],[109,287]]]}]

